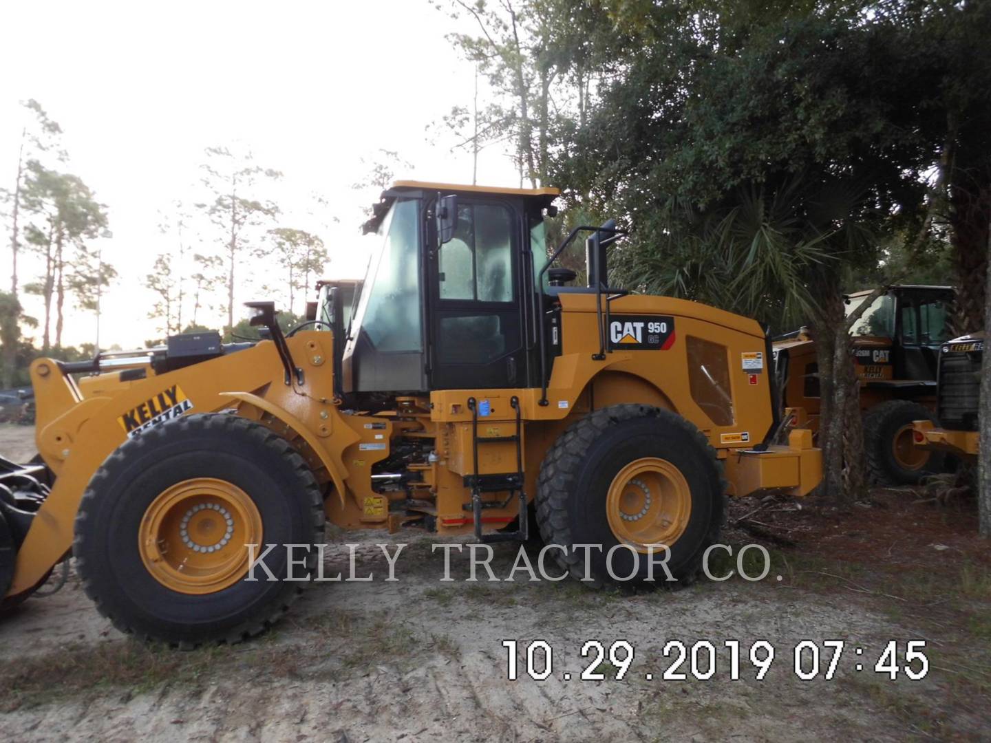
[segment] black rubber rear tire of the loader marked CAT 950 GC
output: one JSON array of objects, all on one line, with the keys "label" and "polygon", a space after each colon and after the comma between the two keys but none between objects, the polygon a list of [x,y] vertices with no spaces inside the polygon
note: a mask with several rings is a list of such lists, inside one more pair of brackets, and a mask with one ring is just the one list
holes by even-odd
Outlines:
[{"label": "black rubber rear tire of the loader marked CAT 950 GC", "polygon": [[[547,453],[537,482],[537,523],[543,541],[568,550],[551,550],[562,569],[572,577],[593,580],[596,587],[620,583],[609,575],[606,554],[619,544],[609,527],[606,493],[613,478],[629,463],[656,457],[674,465],[691,491],[691,515],[682,535],[669,545],[668,568],[676,583],[654,570],[654,585],[690,584],[702,568],[706,549],[716,542],[722,525],[725,486],[716,451],[692,423],[668,410],[648,405],[612,405],[590,413],[570,426]],[[589,551],[572,545],[603,545]],[[657,557],[660,560],[660,556]],[[647,559],[636,560],[633,578],[621,583],[645,584]],[[612,560],[615,576],[633,574],[634,558],[625,548]]]}]

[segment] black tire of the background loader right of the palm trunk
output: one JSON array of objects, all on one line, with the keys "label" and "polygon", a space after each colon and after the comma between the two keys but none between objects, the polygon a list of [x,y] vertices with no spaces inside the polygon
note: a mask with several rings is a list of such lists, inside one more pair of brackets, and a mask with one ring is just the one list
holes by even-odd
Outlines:
[{"label": "black tire of the background loader right of the palm trunk", "polygon": [[895,439],[900,432],[903,437],[911,436],[911,431],[906,433],[906,427],[911,427],[914,420],[930,420],[939,425],[929,408],[912,400],[887,400],[864,413],[864,454],[871,482],[914,485],[927,475],[943,472],[946,458],[942,452],[931,452],[928,461],[918,466],[908,466],[896,457]]}]

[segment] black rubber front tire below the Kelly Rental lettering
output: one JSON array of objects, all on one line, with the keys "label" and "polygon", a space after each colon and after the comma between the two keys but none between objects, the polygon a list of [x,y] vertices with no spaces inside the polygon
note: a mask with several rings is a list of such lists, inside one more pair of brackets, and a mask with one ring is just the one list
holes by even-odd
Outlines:
[{"label": "black rubber front tire below the Kelly Rental lettering", "polygon": [[[266,564],[211,593],[166,587],[145,567],[139,533],[149,505],[189,478],[217,478],[240,487],[261,515]],[[226,414],[178,418],[130,439],[89,482],[75,519],[73,554],[86,594],[118,629],[182,648],[235,643],[268,629],[308,584],[317,553],[301,553],[287,582],[286,544],[322,542],[323,504],[316,480],[288,442],[270,429]],[[264,551],[259,550],[260,554]]]}]

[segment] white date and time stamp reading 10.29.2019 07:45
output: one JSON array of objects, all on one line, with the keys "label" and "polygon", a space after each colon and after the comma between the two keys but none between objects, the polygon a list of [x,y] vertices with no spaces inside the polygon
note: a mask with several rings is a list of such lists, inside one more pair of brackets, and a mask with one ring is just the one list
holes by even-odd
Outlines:
[{"label": "white date and time stamp reading 10.29.2019 07:45", "polygon": [[[555,675],[555,652],[550,643],[545,640],[533,640],[523,643],[522,653],[516,640],[503,640],[502,647],[506,650],[506,678],[516,681],[519,678],[520,661],[524,671],[534,681],[546,681]],[[836,676],[841,659],[846,650],[844,640],[801,640],[789,648],[791,655],[791,671],[802,681],[825,679],[830,681]],[[905,676],[912,681],[926,678],[929,673],[929,658],[926,656],[925,640],[909,640],[899,643],[888,640],[884,649],[877,654],[865,656],[864,648],[854,646],[846,653],[854,658],[854,663],[847,663],[847,672],[873,672],[887,676],[895,681],[899,676]],[[580,653],[587,659],[578,674],[580,681],[605,681],[606,678],[622,681],[630,671],[636,651],[626,640],[615,640],[606,646],[599,640],[587,640]],[[661,651],[661,657],[667,665],[661,672],[662,681],[687,681],[689,677],[699,681],[709,681],[719,673],[728,674],[729,681],[739,681],[740,667],[749,661],[755,669],[753,678],[763,681],[770,671],[779,653],[773,644],[767,640],[757,640],[749,648],[743,648],[739,640],[725,640],[717,648],[717,644],[709,640],[699,640],[687,645],[681,640],[669,640]],[[873,660],[873,662],[871,662]],[[780,662],[779,662],[780,663]],[[901,665],[900,665],[901,663]],[[607,673],[606,673],[607,672]],[[654,673],[645,672],[633,674],[646,681],[653,681]],[[746,676],[750,676],[749,673]],[[571,681],[571,672],[558,674],[562,681]]]}]

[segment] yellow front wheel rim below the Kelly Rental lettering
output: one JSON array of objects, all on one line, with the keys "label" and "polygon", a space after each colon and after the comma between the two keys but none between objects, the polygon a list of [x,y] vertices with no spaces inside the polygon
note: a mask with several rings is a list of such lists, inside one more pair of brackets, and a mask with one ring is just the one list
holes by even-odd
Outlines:
[{"label": "yellow front wheel rim below the Kelly Rental lettering", "polygon": [[215,478],[184,479],[159,493],[138,536],[141,559],[155,580],[197,595],[244,577],[247,544],[262,544],[262,514],[248,493]]}]

